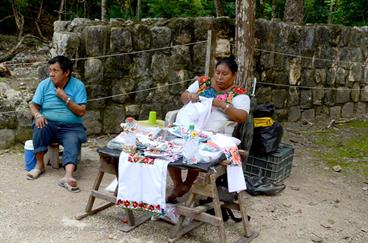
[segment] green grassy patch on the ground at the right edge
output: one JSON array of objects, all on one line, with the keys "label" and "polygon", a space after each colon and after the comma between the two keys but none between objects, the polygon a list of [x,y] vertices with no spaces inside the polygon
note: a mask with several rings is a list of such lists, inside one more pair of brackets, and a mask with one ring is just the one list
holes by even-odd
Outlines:
[{"label": "green grassy patch on the ground at the right edge", "polygon": [[343,172],[359,173],[368,178],[368,121],[353,121],[336,130],[312,132],[313,151],[328,166],[340,165]]}]

